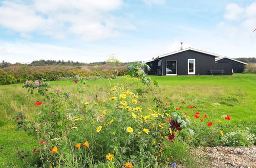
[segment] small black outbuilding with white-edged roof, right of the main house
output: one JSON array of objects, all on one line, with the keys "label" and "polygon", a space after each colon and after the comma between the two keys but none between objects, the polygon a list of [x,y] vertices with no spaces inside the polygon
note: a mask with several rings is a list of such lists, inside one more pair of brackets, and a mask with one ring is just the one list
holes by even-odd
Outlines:
[{"label": "small black outbuilding with white-edged roof, right of the main house", "polygon": [[244,72],[244,65],[247,65],[246,63],[238,60],[234,60],[228,57],[221,57],[221,58],[216,58],[215,63],[231,63],[232,64],[232,69],[233,73],[242,73]]}]

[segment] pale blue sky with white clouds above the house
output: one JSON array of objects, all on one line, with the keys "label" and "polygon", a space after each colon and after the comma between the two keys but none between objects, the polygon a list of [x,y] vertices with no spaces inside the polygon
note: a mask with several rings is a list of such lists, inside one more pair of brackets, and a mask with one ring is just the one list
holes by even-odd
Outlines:
[{"label": "pale blue sky with white clouds above the house", "polygon": [[256,57],[255,29],[255,0],[0,0],[0,61],[146,61],[180,42]]}]

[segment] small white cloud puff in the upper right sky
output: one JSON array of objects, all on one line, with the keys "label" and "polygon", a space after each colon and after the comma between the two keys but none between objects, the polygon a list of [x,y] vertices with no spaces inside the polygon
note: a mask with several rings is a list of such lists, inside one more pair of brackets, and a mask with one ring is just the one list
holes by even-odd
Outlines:
[{"label": "small white cloud puff in the upper right sky", "polygon": [[239,20],[243,12],[244,9],[240,8],[237,4],[228,4],[226,6],[226,14],[224,17],[228,20]]}]

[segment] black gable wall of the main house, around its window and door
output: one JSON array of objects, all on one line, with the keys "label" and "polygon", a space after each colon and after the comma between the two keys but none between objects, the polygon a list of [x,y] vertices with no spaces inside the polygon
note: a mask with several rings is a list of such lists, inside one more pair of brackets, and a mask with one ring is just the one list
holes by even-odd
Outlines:
[{"label": "black gable wall of the main house, around its window and door", "polygon": [[195,75],[209,75],[209,70],[215,66],[214,56],[193,50],[186,50],[160,59],[163,61],[163,75],[166,75],[166,61],[177,61],[177,75],[188,75],[188,59],[196,60]]}]

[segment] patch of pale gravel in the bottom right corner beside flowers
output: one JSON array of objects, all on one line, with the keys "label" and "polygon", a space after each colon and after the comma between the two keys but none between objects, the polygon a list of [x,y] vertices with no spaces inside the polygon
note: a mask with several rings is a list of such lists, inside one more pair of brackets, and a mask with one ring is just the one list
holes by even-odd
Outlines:
[{"label": "patch of pale gravel in the bottom right corner beside flowers", "polygon": [[256,146],[248,147],[205,147],[191,152],[209,160],[207,167],[256,167]]}]

